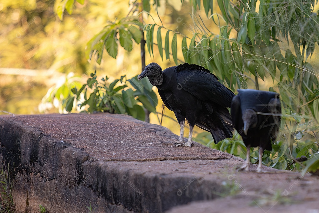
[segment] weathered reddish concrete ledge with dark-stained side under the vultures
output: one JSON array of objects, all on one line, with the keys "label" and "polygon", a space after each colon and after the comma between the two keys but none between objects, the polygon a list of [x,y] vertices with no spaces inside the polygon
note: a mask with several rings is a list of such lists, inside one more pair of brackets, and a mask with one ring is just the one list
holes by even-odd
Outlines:
[{"label": "weathered reddish concrete ledge with dark-stained side under the vultures", "polygon": [[175,148],[177,139],[165,127],[125,115],[0,117],[0,159],[14,177],[17,212],[38,212],[39,204],[48,212],[87,212],[90,203],[95,212],[174,211],[233,189],[246,202],[273,192],[303,203],[318,199],[315,177],[299,180],[299,173],[268,167],[265,174],[238,173],[240,158],[198,143]]}]

